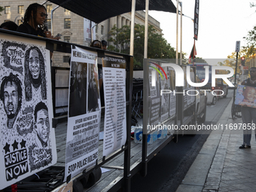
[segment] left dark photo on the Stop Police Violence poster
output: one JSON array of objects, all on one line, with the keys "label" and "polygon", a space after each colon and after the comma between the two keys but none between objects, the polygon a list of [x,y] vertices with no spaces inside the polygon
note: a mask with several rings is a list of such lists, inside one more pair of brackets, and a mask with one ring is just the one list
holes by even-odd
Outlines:
[{"label": "left dark photo on the Stop Police Violence poster", "polygon": [[77,65],[75,83],[71,85],[69,96],[69,117],[87,113],[87,63],[72,62]]}]

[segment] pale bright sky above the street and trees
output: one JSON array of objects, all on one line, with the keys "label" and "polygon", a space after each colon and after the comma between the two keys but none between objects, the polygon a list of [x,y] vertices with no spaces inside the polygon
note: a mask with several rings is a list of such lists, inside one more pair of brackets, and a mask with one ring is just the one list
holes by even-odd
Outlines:
[{"label": "pale bright sky above the street and trees", "polygon": [[[176,1],[172,2],[176,6]],[[200,0],[197,57],[226,59],[235,51],[236,41],[240,41],[241,47],[245,46],[243,37],[256,26],[256,8],[250,8],[250,2],[256,3],[255,0]],[[182,0],[182,13],[193,19],[194,4],[194,0]],[[149,11],[149,15],[160,22],[163,37],[176,50],[176,14]],[[194,44],[194,22],[188,17],[182,17],[182,52],[187,53],[186,58]],[[180,16],[178,20],[180,22]],[[178,52],[180,37],[178,31]]]}]

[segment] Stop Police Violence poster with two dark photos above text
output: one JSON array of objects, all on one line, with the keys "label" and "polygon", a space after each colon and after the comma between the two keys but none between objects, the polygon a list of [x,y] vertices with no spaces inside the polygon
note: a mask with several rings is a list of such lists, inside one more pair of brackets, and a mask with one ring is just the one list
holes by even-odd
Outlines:
[{"label": "Stop Police Violence poster with two dark photos above text", "polygon": [[101,113],[97,53],[75,47],[70,69],[65,181],[96,165]]}]

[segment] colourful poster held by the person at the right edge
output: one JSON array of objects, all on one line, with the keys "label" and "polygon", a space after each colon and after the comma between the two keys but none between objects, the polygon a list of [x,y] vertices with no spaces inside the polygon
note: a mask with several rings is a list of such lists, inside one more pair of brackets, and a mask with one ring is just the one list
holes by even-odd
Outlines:
[{"label": "colourful poster held by the person at the right edge", "polygon": [[239,84],[236,89],[235,105],[256,108],[256,87]]}]

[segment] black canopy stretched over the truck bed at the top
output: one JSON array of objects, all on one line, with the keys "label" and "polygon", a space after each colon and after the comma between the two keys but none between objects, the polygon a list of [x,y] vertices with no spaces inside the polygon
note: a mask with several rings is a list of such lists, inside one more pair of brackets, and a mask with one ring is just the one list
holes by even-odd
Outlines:
[{"label": "black canopy stretched over the truck bed at the top", "polygon": [[[49,0],[81,17],[100,23],[110,17],[132,11],[132,0]],[[136,0],[136,11],[145,10],[145,0]],[[150,0],[149,10],[175,13],[172,0]]]}]

